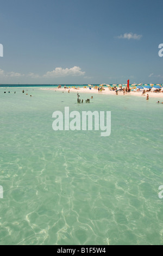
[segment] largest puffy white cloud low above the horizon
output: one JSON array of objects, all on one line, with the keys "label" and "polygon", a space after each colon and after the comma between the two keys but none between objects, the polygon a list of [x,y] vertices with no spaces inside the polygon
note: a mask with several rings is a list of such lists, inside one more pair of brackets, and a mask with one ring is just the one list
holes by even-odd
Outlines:
[{"label": "largest puffy white cloud low above the horizon", "polygon": [[53,71],[46,72],[43,77],[62,77],[62,76],[83,76],[85,74],[84,71],[81,71],[79,66],[73,66],[73,68],[55,68]]}]

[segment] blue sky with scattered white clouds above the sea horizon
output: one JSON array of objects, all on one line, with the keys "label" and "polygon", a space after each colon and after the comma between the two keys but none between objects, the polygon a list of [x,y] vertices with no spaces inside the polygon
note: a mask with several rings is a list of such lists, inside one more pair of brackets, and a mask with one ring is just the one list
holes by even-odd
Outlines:
[{"label": "blue sky with scattered white clouds above the sea horizon", "polygon": [[0,0],[0,83],[163,83],[162,0]]}]

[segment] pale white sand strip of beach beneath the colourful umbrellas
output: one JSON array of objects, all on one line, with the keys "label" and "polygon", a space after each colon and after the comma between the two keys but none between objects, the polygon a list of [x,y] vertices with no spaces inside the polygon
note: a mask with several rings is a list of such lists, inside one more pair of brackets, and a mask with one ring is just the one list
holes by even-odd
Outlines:
[{"label": "pale white sand strip of beach beneath the colourful umbrellas", "polygon": [[[98,93],[97,89],[91,88],[91,90],[89,88],[78,88],[78,89],[74,89],[74,88],[41,88],[41,90],[54,90],[54,91],[60,91],[60,92],[66,92],[68,93],[68,90],[70,89],[70,93],[90,93],[90,94],[106,94],[106,95],[116,95],[115,91],[111,91],[108,88],[105,88],[105,90],[102,90],[102,92]],[[154,93],[154,92],[146,92],[145,96],[142,96],[142,92],[133,92],[131,91],[130,93],[125,94],[124,96],[141,96],[141,97],[146,97],[147,93],[150,97],[156,97],[156,98],[163,98],[163,93]],[[123,95],[123,92],[118,92],[118,95]],[[118,96],[117,95],[117,96]]]}]

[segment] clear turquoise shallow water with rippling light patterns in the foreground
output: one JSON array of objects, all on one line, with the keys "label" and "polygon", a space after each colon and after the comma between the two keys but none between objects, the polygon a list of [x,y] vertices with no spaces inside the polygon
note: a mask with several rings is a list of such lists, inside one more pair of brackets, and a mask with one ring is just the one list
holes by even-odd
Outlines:
[{"label": "clear turquoise shallow water with rippling light patterns in the foreground", "polygon": [[[0,89],[0,244],[162,245],[160,99],[27,89]],[[65,106],[111,111],[111,135],[53,131]]]}]

